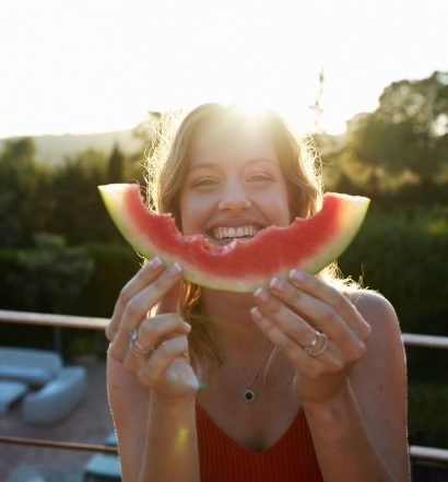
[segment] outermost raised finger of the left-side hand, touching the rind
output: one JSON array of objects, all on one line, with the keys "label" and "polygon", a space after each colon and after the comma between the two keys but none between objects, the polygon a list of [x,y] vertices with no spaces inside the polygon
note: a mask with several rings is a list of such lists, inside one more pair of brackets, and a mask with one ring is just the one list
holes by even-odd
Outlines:
[{"label": "outermost raised finger of the left-side hand, touching the rind", "polygon": [[162,268],[162,261],[160,258],[155,257],[151,261],[146,262],[143,268],[141,268],[139,272],[123,286],[115,305],[110,322],[106,328],[106,338],[109,341],[113,341],[118,331],[122,311],[127,303],[132,298],[132,296],[143,290],[144,286],[153,282],[161,273]]}]

